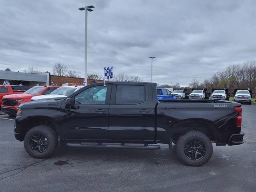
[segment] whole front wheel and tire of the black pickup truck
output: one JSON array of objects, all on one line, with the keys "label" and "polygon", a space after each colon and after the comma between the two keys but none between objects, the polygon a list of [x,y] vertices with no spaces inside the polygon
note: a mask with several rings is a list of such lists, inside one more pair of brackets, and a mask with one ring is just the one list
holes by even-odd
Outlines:
[{"label": "whole front wheel and tire of the black pickup truck", "polygon": [[26,152],[34,158],[49,157],[58,146],[57,133],[50,127],[40,125],[30,129],[24,137]]}]

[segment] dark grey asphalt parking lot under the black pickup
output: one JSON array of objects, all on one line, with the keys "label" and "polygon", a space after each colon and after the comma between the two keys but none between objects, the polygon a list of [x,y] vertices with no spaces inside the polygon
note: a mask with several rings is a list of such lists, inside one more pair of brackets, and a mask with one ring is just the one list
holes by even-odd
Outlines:
[{"label": "dark grey asphalt parking lot under the black pickup", "polygon": [[243,105],[240,146],[214,146],[202,167],[183,165],[162,145],[159,150],[61,148],[35,159],[15,140],[14,118],[0,115],[1,192],[255,192],[256,104]]}]

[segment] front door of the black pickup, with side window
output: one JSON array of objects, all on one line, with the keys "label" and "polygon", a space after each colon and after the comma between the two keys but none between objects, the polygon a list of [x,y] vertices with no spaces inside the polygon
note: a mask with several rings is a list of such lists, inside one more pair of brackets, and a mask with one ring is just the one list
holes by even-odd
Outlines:
[{"label": "front door of the black pickup, with side window", "polygon": [[108,139],[111,85],[89,85],[71,97],[71,106],[60,113],[64,139]]}]

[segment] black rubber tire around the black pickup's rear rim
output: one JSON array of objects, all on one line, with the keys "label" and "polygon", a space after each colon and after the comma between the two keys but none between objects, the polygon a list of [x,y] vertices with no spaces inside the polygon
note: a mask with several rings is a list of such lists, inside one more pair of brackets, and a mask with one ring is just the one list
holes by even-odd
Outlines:
[{"label": "black rubber tire around the black pickup's rear rim", "polygon": [[[191,160],[189,159],[185,152],[184,152],[184,147],[185,145],[190,141],[190,140],[200,140],[206,149],[205,155],[200,159],[200,160]],[[212,143],[210,139],[203,134],[200,131],[188,131],[185,134],[181,135],[176,143],[176,153],[178,158],[186,165],[189,166],[202,166],[206,164],[210,158],[212,157]]]}]

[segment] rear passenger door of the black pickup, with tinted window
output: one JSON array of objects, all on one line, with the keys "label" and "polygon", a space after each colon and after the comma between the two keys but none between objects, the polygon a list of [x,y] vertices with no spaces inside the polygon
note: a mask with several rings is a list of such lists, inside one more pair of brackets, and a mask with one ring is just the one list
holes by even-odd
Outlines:
[{"label": "rear passenger door of the black pickup, with tinted window", "polygon": [[108,135],[112,140],[154,140],[151,86],[128,83],[112,86]]}]

